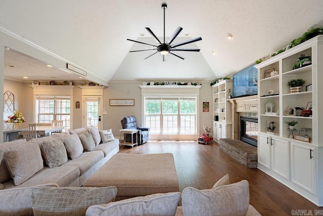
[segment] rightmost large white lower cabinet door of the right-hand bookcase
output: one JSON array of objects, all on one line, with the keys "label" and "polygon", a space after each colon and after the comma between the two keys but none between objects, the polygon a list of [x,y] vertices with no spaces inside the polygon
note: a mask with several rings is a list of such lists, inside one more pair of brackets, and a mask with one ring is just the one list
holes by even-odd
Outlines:
[{"label": "rightmost large white lower cabinet door of the right-hand bookcase", "polygon": [[291,142],[291,181],[315,195],[315,148]]}]

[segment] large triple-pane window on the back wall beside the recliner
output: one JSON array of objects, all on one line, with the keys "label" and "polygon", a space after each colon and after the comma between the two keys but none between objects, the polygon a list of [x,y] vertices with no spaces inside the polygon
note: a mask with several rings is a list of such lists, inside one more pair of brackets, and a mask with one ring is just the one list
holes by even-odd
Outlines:
[{"label": "large triple-pane window on the back wall beside the recliner", "polygon": [[151,134],[196,134],[196,97],[145,97]]}]

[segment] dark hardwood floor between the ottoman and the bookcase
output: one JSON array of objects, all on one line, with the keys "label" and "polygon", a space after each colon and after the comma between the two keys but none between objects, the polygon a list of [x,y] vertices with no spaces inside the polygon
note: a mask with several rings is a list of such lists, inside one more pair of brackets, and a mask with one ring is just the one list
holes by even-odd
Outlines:
[{"label": "dark hardwood floor between the ottoman and the bookcase", "polygon": [[[148,141],[134,148],[121,146],[121,153],[174,155],[180,191],[191,186],[211,188],[224,175],[230,182],[249,182],[250,204],[262,215],[292,215],[292,210],[323,210],[257,168],[247,168],[220,150],[219,144],[197,141]],[[304,212],[303,212],[304,213]],[[305,214],[302,214],[305,215]]]}]

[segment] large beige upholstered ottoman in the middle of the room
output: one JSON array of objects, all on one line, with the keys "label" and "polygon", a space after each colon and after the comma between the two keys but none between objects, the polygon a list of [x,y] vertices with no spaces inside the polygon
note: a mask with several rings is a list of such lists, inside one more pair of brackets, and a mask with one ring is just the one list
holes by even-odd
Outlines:
[{"label": "large beige upholstered ottoman in the middle of the room", "polygon": [[116,186],[116,200],[179,191],[173,154],[118,153],[99,168],[83,187]]}]

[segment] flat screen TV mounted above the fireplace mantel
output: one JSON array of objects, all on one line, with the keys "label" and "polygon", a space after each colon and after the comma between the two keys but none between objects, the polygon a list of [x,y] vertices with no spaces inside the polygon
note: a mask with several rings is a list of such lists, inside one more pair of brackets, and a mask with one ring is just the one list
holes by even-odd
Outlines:
[{"label": "flat screen TV mounted above the fireplace mantel", "polygon": [[254,65],[233,74],[233,98],[257,95],[258,71]]}]

